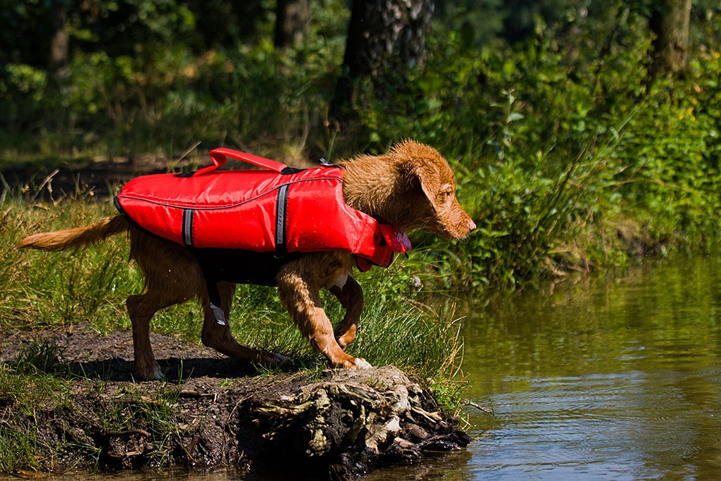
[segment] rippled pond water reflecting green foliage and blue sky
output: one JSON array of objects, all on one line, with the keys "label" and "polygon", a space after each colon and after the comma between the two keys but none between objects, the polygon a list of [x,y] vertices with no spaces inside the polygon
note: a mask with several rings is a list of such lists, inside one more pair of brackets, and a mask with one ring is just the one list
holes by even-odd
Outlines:
[{"label": "rippled pond water reflecting green foliage and blue sky", "polygon": [[656,262],[470,306],[468,396],[495,415],[465,411],[468,451],[364,479],[718,479],[720,278],[721,259]]}]

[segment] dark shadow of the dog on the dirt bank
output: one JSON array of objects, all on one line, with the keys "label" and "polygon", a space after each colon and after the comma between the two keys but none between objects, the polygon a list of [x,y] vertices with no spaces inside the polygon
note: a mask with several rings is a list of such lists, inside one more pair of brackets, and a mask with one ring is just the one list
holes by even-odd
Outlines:
[{"label": "dark shadow of the dog on the dirt bank", "polygon": [[[166,358],[158,359],[164,380],[179,382],[185,379],[211,377],[257,376],[259,371],[252,364],[232,358]],[[133,361],[109,358],[97,361],[70,361],[57,366],[56,372],[65,371],[72,378],[99,381],[143,381],[136,374]]]}]

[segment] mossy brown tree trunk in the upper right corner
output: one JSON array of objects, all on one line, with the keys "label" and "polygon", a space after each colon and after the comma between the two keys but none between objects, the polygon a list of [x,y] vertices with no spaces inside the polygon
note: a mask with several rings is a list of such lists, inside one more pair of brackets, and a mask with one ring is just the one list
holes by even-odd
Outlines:
[{"label": "mossy brown tree trunk in the upper right corner", "polygon": [[652,78],[675,76],[686,69],[690,20],[691,0],[658,2],[649,21],[649,27],[656,35],[649,71]]}]

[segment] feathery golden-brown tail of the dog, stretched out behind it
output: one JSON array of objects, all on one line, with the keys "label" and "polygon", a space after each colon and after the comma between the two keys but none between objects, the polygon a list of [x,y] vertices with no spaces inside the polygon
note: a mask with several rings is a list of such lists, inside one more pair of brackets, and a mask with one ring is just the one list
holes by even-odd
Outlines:
[{"label": "feathery golden-brown tail of the dog, stretched out behind it", "polygon": [[40,250],[79,249],[96,244],[130,228],[128,221],[121,216],[107,217],[92,226],[76,227],[64,231],[42,232],[25,237],[17,244],[18,249],[30,248]]}]

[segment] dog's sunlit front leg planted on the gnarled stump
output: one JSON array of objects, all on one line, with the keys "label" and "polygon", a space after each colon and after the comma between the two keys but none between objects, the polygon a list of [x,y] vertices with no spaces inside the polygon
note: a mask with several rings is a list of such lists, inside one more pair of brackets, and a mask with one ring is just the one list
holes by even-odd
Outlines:
[{"label": "dog's sunlit front leg planted on the gnarled stump", "polygon": [[334,367],[370,368],[368,361],[348,355],[338,345],[333,326],[323,310],[319,291],[320,286],[294,270],[285,270],[278,275],[280,301],[311,345],[323,353]]}]

